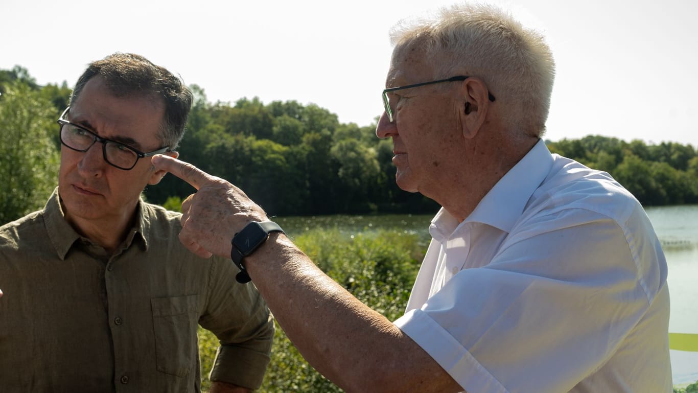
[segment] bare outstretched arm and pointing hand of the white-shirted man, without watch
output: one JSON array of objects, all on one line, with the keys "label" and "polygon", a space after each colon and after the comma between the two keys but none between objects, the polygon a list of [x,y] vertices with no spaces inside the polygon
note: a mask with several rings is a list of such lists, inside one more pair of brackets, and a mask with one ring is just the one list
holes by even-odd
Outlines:
[{"label": "bare outstretched arm and pointing hand of the white-shirted man, without watch", "polygon": [[[194,253],[228,258],[235,233],[267,220],[228,181],[174,158],[155,156],[152,162],[197,189],[182,203],[179,235]],[[346,392],[462,390],[412,339],[320,271],[285,235],[270,235],[244,263],[289,339]]]}]

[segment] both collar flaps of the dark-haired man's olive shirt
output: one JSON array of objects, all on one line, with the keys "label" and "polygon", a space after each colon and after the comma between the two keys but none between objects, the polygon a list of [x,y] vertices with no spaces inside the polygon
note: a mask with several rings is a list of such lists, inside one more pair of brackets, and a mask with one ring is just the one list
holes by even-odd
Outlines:
[{"label": "both collar flaps of the dark-haired man's olive shirt", "polygon": [[[138,218],[134,227],[131,228],[131,231],[129,231],[126,236],[125,248],[130,247],[134,239],[138,237],[142,239],[144,250],[148,249],[147,237],[144,234],[148,233],[151,223],[149,217],[144,214],[144,205],[145,202],[143,202],[142,199],[138,201],[138,206],[136,207]],[[75,229],[66,221],[66,216],[63,212],[63,207],[61,207],[60,197],[58,195],[58,187],[54,189],[48,202],[46,202],[46,206],[43,210],[43,217],[46,225],[46,232],[51,244],[56,250],[58,258],[65,260],[73,244],[79,239],[84,239],[84,237],[75,232]]]}]

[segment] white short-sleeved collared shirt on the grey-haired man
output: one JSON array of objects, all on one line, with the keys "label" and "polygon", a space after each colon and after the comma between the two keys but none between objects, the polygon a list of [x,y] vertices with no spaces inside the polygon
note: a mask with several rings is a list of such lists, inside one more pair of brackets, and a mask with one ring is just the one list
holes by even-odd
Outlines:
[{"label": "white short-sleeved collared shirt on the grey-haired man", "polygon": [[429,232],[394,323],[467,392],[671,392],[667,262],[607,173],[539,141]]}]

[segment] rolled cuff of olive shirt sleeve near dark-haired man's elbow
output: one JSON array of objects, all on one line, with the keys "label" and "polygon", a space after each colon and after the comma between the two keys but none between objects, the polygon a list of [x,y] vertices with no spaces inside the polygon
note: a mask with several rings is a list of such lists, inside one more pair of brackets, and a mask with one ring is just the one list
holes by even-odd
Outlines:
[{"label": "rolled cuff of olive shirt sleeve near dark-haired man's elbow", "polygon": [[235,346],[221,346],[211,369],[211,381],[259,389],[268,364],[267,353]]}]

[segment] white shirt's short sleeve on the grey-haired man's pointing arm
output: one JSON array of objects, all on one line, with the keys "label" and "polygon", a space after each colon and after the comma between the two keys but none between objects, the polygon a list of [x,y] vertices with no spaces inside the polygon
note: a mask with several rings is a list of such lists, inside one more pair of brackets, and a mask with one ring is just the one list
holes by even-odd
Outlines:
[{"label": "white shirt's short sleeve on the grey-haired man's pointing arm", "polygon": [[[601,214],[517,228],[485,267],[464,269],[395,325],[468,392],[569,392],[611,357],[659,288]],[[593,246],[591,246],[593,245]]]}]

